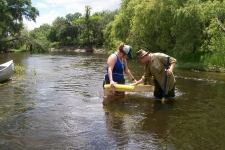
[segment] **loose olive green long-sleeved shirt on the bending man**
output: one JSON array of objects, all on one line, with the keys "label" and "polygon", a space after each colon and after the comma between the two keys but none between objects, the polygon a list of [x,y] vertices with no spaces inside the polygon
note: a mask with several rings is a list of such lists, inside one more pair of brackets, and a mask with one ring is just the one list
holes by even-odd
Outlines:
[{"label": "loose olive green long-sleeved shirt on the bending man", "polygon": [[[167,57],[170,57],[163,53],[150,53],[151,61],[145,64],[145,73],[142,76],[142,80],[146,84],[147,81],[150,85],[154,85],[154,79],[158,81],[160,87],[164,89],[164,80],[166,75],[166,62]],[[170,64],[177,63],[177,60],[170,57]],[[172,73],[167,77],[166,94],[173,89],[176,80]]]}]

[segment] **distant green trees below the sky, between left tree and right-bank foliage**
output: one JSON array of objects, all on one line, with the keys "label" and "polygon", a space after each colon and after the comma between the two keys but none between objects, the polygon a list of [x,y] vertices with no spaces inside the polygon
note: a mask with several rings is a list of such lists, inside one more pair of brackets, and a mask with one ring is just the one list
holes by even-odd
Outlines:
[{"label": "distant green trees below the sky, between left tree and right-bank foliage", "polygon": [[62,45],[88,46],[91,50],[93,47],[101,47],[105,41],[103,30],[114,20],[118,11],[103,10],[91,15],[91,9],[90,6],[85,6],[83,16],[77,12],[57,17],[51,26],[44,24],[30,31],[30,36],[46,49]]}]

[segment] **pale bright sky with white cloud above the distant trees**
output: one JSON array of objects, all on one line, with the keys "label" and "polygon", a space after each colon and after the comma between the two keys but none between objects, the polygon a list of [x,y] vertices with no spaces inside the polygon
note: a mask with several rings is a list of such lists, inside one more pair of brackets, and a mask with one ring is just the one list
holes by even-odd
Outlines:
[{"label": "pale bright sky with white cloud above the distant trees", "polygon": [[65,17],[67,14],[76,12],[84,15],[85,6],[90,6],[91,13],[102,10],[114,11],[120,8],[121,0],[31,0],[32,6],[39,11],[36,22],[24,19],[28,30],[40,27],[42,24],[49,25],[57,17]]}]

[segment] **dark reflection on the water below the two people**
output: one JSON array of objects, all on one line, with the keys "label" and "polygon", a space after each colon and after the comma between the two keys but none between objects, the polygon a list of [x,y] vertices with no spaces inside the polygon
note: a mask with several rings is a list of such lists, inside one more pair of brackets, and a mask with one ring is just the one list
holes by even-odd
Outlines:
[{"label": "dark reflection on the water below the two people", "polygon": [[161,101],[136,95],[118,97],[105,104],[108,136],[118,148],[157,149],[165,142],[170,130],[168,114],[175,101],[163,105]]}]

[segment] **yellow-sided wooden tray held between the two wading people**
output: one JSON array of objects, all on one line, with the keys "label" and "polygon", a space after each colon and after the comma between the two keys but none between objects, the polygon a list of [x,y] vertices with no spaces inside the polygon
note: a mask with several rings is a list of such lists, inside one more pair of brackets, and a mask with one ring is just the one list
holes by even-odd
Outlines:
[{"label": "yellow-sided wooden tray held between the two wading people", "polygon": [[139,84],[137,86],[116,84],[114,88],[111,88],[109,84],[105,84],[104,88],[108,91],[124,91],[124,92],[153,92],[155,86]]}]

